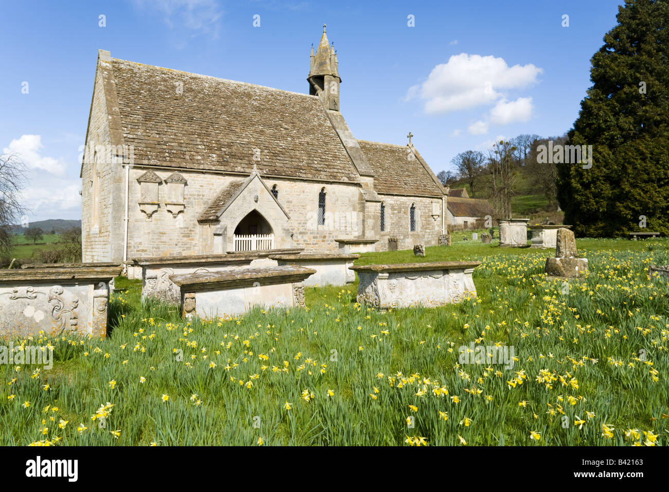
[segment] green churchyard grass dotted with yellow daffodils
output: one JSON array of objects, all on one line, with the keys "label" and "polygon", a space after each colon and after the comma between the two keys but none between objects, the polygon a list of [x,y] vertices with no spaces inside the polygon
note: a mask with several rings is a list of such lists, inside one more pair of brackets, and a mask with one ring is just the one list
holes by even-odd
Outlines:
[{"label": "green churchyard grass dotted with yellow daffodils", "polygon": [[[478,296],[434,309],[375,311],[353,284],[185,321],[118,278],[108,338],[37,337],[53,370],[0,366],[0,445],[667,444],[669,286],[647,272],[668,240],[578,240],[591,270],[563,284],[550,250],[454,239],[357,260],[482,261]],[[517,360],[465,363],[472,343]]]}]

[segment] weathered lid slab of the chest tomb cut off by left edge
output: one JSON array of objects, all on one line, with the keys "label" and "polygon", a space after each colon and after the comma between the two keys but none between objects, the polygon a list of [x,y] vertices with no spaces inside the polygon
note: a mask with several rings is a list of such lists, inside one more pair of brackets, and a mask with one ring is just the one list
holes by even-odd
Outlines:
[{"label": "weathered lid slab of the chest tomb cut off by left edge", "polygon": [[92,266],[91,264],[72,264],[68,267],[17,268],[0,270],[0,284],[12,284],[23,281],[54,280],[57,283],[72,283],[84,280],[111,280],[121,274],[122,267]]}]

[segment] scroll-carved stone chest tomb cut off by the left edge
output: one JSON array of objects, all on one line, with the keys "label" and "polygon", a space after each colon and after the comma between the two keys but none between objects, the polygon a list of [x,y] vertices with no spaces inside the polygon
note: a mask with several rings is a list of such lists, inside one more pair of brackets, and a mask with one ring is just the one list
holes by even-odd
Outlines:
[{"label": "scroll-carved stone chest tomb cut off by the left edge", "polygon": [[0,270],[0,337],[107,333],[109,284],[122,267],[33,265]]}]

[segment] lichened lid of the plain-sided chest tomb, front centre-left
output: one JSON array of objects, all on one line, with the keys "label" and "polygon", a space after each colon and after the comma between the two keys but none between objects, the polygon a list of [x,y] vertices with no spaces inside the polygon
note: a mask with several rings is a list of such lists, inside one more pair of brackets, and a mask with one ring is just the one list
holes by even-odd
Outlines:
[{"label": "lichened lid of the plain-sided chest tomb, front centre-left", "polygon": [[182,291],[212,291],[254,285],[284,284],[302,282],[316,273],[313,268],[304,266],[266,266],[247,267],[221,272],[200,272],[170,275],[169,279],[182,288]]}]

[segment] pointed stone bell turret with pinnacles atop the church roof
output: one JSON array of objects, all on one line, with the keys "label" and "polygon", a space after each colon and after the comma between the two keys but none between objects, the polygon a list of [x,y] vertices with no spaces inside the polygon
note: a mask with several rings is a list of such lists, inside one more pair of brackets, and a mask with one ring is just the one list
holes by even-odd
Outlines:
[{"label": "pointed stone bell turret with pinnacles atop the church roof", "polygon": [[314,55],[311,48],[311,59],[309,76],[309,94],[320,97],[324,106],[328,109],[339,111],[339,68],[337,67],[337,53],[334,46],[330,46],[325,33],[326,25],[323,24],[323,35],[320,37],[318,50]]}]

